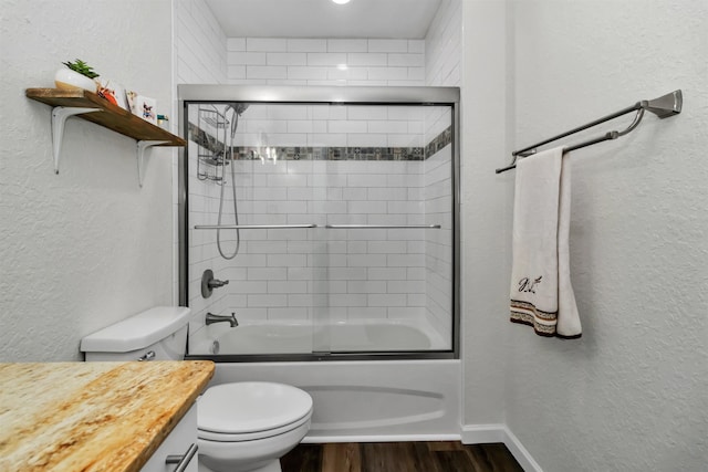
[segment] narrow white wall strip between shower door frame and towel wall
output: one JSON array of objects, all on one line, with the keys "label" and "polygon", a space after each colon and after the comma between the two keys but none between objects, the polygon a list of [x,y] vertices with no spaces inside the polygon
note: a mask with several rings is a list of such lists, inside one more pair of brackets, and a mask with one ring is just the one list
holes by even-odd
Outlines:
[{"label": "narrow white wall strip between shower door frame and towel wall", "polygon": [[464,426],[503,423],[509,322],[507,7],[462,2],[461,343]]}]

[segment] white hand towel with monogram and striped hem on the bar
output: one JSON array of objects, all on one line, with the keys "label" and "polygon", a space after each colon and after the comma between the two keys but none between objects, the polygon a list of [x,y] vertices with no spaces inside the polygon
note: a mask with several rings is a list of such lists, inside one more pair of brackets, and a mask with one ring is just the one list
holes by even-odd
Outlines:
[{"label": "white hand towel with monogram and striped hem on the bar", "polygon": [[563,148],[517,164],[511,321],[541,336],[582,335],[570,277],[571,172]]}]

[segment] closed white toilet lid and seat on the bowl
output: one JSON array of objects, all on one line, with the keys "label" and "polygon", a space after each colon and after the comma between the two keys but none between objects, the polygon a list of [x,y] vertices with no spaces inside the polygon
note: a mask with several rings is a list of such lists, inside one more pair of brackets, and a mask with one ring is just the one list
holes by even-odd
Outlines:
[{"label": "closed white toilet lid and seat on the bowl", "polygon": [[275,382],[235,382],[210,387],[198,400],[198,437],[219,442],[252,441],[296,429],[310,421],[312,397]]}]

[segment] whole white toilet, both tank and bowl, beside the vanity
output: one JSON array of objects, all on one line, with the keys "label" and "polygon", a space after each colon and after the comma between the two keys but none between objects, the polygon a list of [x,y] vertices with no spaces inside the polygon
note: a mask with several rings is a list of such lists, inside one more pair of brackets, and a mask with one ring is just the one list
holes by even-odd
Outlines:
[{"label": "whole white toilet, both tank and bowl, beside the vanity", "polygon": [[[81,340],[86,361],[181,360],[187,307],[158,306]],[[280,458],[310,430],[312,397],[264,381],[209,387],[197,399],[200,472],[282,472]]]}]

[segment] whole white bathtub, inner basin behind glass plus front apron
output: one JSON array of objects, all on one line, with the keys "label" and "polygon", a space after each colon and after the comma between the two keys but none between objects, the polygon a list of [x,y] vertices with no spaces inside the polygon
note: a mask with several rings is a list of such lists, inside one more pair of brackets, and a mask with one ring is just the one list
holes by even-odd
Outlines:
[{"label": "whole white bathtub, inner basin behind glass plus front apron", "polygon": [[[310,354],[341,350],[445,349],[410,323],[354,322],[321,326],[218,323],[190,336],[190,354]],[[316,343],[316,345],[315,345]],[[329,344],[327,344],[329,343]],[[321,349],[313,349],[319,346]],[[458,359],[226,363],[215,356],[211,385],[278,381],[302,388],[314,400],[305,442],[459,440]]]}]

